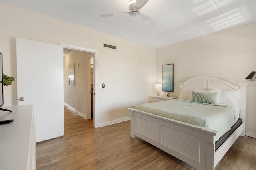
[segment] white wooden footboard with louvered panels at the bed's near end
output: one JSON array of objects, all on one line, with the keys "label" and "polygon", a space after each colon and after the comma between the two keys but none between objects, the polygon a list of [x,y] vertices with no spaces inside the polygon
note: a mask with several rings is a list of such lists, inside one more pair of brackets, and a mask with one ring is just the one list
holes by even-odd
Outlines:
[{"label": "white wooden footboard with louvered panels at the bed's near end", "polygon": [[131,137],[138,136],[198,169],[214,169],[217,131],[182,123],[133,108]]}]

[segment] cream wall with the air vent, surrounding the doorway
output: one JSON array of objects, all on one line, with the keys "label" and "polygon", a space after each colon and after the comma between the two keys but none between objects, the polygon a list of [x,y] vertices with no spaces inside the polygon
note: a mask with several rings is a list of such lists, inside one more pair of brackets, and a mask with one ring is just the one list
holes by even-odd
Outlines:
[{"label": "cream wall with the air vent, surrounding the doorway", "polygon": [[[16,76],[16,37],[97,51],[96,127],[130,118],[128,108],[155,93],[156,49],[1,2],[4,73]],[[103,42],[118,50],[103,48]],[[50,61],[49,61],[50,62]],[[17,104],[17,82],[4,88],[5,106]]]}]

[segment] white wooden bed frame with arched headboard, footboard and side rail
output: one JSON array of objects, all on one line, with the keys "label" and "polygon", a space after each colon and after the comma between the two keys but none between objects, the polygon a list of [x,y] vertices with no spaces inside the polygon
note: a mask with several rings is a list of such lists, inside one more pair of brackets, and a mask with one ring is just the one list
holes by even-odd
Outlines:
[{"label": "white wooden bed frame with arched headboard, footboard and side rail", "polygon": [[218,131],[129,108],[131,137],[137,136],[195,168],[214,170],[236,139],[245,134],[246,86],[248,84],[238,84],[214,75],[202,75],[192,77],[178,85],[180,93],[182,89],[240,89],[242,124],[218,150],[214,151],[214,136]]}]

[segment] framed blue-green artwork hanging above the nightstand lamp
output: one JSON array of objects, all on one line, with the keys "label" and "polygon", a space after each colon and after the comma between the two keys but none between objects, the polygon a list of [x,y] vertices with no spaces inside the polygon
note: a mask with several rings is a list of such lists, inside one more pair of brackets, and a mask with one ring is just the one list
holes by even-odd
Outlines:
[{"label": "framed blue-green artwork hanging above the nightstand lamp", "polygon": [[174,64],[162,65],[162,91],[173,92]]}]

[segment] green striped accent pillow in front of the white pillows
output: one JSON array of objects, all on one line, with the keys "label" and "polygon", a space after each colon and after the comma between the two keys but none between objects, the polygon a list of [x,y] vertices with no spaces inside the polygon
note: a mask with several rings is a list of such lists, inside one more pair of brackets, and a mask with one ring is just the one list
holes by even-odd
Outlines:
[{"label": "green striped accent pillow in front of the white pillows", "polygon": [[192,102],[218,104],[218,92],[204,93],[192,91]]}]

